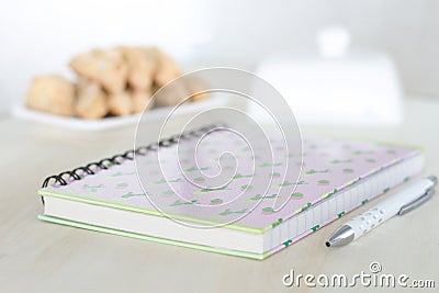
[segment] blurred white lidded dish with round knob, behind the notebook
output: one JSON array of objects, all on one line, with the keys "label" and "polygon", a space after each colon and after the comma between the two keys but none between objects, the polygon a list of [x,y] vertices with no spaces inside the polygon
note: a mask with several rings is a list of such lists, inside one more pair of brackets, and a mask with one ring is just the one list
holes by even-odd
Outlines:
[{"label": "blurred white lidded dish with round knob, behind the notebook", "polygon": [[341,31],[331,29],[317,41],[319,54],[274,54],[257,68],[290,104],[299,124],[398,124],[402,90],[392,59],[379,52],[347,50]]}]

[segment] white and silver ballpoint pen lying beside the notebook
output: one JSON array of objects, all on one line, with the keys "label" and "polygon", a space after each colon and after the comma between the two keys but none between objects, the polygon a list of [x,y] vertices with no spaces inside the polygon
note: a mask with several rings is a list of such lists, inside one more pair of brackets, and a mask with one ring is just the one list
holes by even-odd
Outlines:
[{"label": "white and silver ballpoint pen lying beside the notebook", "polygon": [[435,176],[416,181],[403,191],[344,224],[330,235],[325,245],[327,247],[347,245],[392,216],[403,215],[412,211],[431,198],[437,182],[438,179]]}]

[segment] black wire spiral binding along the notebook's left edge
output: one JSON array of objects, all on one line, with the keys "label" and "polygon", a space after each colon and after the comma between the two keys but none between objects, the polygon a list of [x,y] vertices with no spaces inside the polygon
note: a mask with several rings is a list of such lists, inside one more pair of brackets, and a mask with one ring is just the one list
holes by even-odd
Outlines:
[{"label": "black wire spiral binding along the notebook's left edge", "polygon": [[[195,131],[190,131],[188,133],[182,133],[180,135],[172,135],[168,138],[164,138],[158,143],[153,143],[147,146],[140,146],[136,149],[130,149],[125,153],[114,155],[111,158],[103,158],[99,161],[90,162],[86,166],[75,168],[69,171],[60,172],[59,174],[53,174],[47,177],[43,181],[42,188],[48,187],[52,180],[55,180],[55,183],[59,185],[67,185],[71,179],[74,181],[81,180],[86,176],[94,174],[99,170],[106,170],[114,165],[121,165],[125,160],[134,160],[135,156],[146,156],[149,151],[156,151],[160,147],[170,147],[172,145],[178,144],[179,139],[190,139],[192,137],[200,137],[201,135],[205,134],[206,132],[214,131],[217,127],[225,127],[224,124],[212,124],[209,126],[201,127]],[[44,199],[42,196],[42,201],[44,203]]]}]

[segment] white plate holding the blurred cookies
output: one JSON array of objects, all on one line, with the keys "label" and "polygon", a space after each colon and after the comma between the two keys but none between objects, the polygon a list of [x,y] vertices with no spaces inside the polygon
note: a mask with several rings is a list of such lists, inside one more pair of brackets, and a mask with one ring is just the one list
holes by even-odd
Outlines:
[{"label": "white plate holding the blurred cookies", "polygon": [[[224,98],[224,97],[223,97]],[[188,103],[179,106],[178,115],[196,113],[204,109],[211,109],[212,106],[224,105],[227,102],[227,99],[223,98],[211,98],[201,102]],[[168,115],[169,111],[172,106],[166,108],[157,108],[149,110],[145,116],[142,119],[143,121],[156,121],[165,115]],[[31,110],[25,108],[24,105],[16,105],[12,109],[12,113],[14,116],[27,121],[49,124],[54,126],[59,126],[69,129],[76,131],[103,131],[117,128],[122,126],[133,125],[138,122],[140,114],[130,115],[130,116],[114,116],[114,117],[105,117],[101,120],[82,120],[78,117],[64,117],[53,114],[47,114],[41,111]]]}]

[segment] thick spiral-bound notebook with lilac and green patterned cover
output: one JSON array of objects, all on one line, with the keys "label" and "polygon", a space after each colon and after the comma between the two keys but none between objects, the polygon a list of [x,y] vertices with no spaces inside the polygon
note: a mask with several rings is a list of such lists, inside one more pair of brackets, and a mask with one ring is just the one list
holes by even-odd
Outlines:
[{"label": "thick spiral-bound notebook with lilac and green patterned cover", "polygon": [[[184,137],[191,140],[198,135],[199,132],[191,132]],[[211,158],[215,157],[219,146],[236,149],[237,158],[250,157],[248,149],[228,135],[222,131],[214,132],[209,144],[200,145],[198,154],[205,159],[201,169],[217,168],[217,161]],[[176,143],[172,137],[48,177],[38,191],[44,202],[44,213],[38,217],[120,236],[264,259],[407,181],[424,166],[421,151],[414,147],[306,138],[303,140],[303,160],[289,162],[302,165],[299,180],[282,178],[279,170],[282,170],[284,160],[277,155],[274,164],[257,158],[255,172],[235,173],[225,188],[209,189],[184,180],[184,173],[190,173],[196,166],[184,159],[178,161],[171,153],[164,151],[161,168],[171,170],[173,177],[153,180],[157,193],[153,195],[167,207],[168,216],[183,218],[185,223],[229,223],[203,229],[176,223],[157,211],[136,176],[135,165],[151,166],[150,160],[157,149],[172,150],[177,147]],[[294,158],[293,154],[286,156]],[[223,167],[227,168],[227,165]],[[273,171],[270,172],[268,192],[261,194],[252,191],[248,180],[263,168]],[[155,169],[147,171],[151,177],[158,176]],[[280,195],[280,190],[285,185],[294,185],[295,190],[288,194],[283,209],[274,211],[272,203],[284,196]],[[176,200],[172,196],[176,190],[184,191],[192,198]],[[234,191],[246,192],[234,201],[232,207],[224,205],[223,209],[223,204],[236,195]],[[248,209],[249,203],[252,209]],[[216,213],[203,214],[199,212],[202,210],[200,206],[215,206]]]}]

